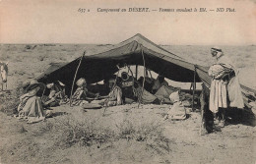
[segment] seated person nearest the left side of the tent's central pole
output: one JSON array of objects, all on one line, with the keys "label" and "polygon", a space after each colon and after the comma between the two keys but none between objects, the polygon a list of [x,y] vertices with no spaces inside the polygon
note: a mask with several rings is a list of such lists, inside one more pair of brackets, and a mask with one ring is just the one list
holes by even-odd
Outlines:
[{"label": "seated person nearest the left side of the tent's central pole", "polygon": [[122,105],[122,89],[118,85],[119,82],[115,82],[114,79],[111,79],[108,81],[108,86],[110,88],[110,92],[106,96],[100,96],[100,98],[103,98],[101,100],[95,100],[92,101],[92,103],[97,103],[103,106],[116,106],[116,105]]}]

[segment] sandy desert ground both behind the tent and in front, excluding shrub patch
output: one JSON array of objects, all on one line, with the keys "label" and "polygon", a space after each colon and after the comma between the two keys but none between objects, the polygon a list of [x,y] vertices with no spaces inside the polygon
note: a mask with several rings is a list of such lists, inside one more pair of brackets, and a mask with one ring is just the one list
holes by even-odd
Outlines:
[{"label": "sandy desert ground both behind the tent and in front, excluding shrub patch", "polygon": [[[34,45],[32,45],[33,47]],[[111,45],[36,45],[27,49],[26,45],[1,45],[0,60],[9,61],[8,88],[31,81],[49,67],[51,62],[69,62],[79,57],[84,50],[89,54],[103,51]],[[213,62],[211,46],[165,46],[170,52],[204,66]],[[224,52],[240,71],[240,82],[256,88],[255,46],[226,46]],[[184,83],[173,82],[174,86]],[[171,83],[172,84],[172,83]],[[188,83],[186,83],[188,85]],[[137,104],[108,108],[102,117],[101,110],[82,111],[80,108],[61,106],[54,108],[53,118],[29,125],[12,116],[0,112],[0,163],[241,163],[256,162],[255,120],[245,112],[243,120],[229,124],[221,132],[200,136],[201,116],[191,112],[185,121],[163,121],[169,105]],[[116,125],[129,120],[136,126],[158,123],[163,129],[168,147],[158,145],[152,148],[145,141],[119,139],[102,145],[65,146],[59,143],[62,134],[51,130],[60,120],[71,117],[75,120],[95,119],[100,125],[114,129]]]}]

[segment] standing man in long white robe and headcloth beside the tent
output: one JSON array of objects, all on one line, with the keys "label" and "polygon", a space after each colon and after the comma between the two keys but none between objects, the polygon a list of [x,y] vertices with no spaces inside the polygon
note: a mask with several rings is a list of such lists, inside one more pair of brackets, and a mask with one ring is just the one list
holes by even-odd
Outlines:
[{"label": "standing man in long white robe and headcloth beside the tent", "polygon": [[219,126],[223,128],[225,110],[228,107],[243,108],[244,103],[236,68],[229,58],[224,56],[221,48],[214,47],[211,53],[217,59],[217,63],[208,71],[212,77],[209,108],[219,119]]}]

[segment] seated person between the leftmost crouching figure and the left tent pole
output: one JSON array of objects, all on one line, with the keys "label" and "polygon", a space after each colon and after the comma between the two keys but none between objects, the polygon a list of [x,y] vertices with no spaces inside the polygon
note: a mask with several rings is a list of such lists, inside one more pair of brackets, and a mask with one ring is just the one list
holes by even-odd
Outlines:
[{"label": "seated person between the leftmost crouching figure and the left tent pole", "polygon": [[61,103],[67,102],[67,96],[65,94],[65,84],[62,82],[50,82],[46,84],[46,87],[50,89],[49,95],[44,97],[43,105],[45,107],[58,106]]}]

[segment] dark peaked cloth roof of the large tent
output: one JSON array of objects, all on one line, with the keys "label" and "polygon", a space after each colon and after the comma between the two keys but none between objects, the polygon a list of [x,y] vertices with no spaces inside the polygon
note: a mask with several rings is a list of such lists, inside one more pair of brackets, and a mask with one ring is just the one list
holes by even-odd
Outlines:
[{"label": "dark peaked cloth roof of the large tent", "polygon": [[[80,60],[81,58],[77,58],[70,63],[52,64],[37,80],[64,82],[69,93]],[[116,65],[145,66],[175,82],[204,82],[207,86],[211,83],[207,73],[208,68],[187,62],[139,33],[114,45],[110,50],[84,56],[76,80],[83,77],[88,83],[102,81],[118,71]],[[244,92],[256,94],[255,90],[245,86],[242,88]],[[244,96],[244,98],[247,103],[248,97]]]}]

